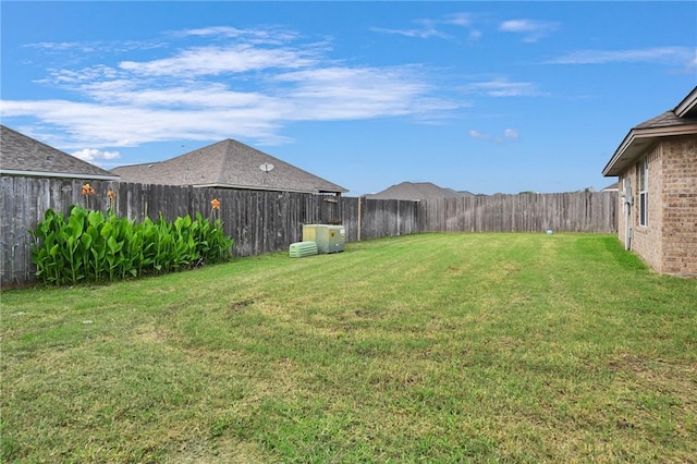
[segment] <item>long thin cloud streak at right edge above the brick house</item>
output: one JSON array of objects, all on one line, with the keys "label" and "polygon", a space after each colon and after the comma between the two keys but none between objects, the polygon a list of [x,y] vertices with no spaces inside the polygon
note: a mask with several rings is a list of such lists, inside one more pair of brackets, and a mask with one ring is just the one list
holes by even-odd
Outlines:
[{"label": "long thin cloud streak at right edge above the brick house", "polygon": [[690,65],[697,62],[697,49],[652,47],[627,50],[578,50],[550,60],[547,64],[667,63]]}]

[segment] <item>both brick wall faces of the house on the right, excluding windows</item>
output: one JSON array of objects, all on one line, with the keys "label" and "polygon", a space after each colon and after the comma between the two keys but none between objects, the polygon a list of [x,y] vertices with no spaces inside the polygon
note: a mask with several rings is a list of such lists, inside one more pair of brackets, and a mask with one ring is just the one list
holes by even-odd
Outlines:
[{"label": "both brick wall faces of the house on the right, excluding windows", "polygon": [[[639,224],[639,162],[648,160],[648,221]],[[668,137],[620,176],[629,179],[631,217],[620,195],[619,236],[626,245],[631,221],[632,251],[658,272],[697,277],[697,136]]]}]

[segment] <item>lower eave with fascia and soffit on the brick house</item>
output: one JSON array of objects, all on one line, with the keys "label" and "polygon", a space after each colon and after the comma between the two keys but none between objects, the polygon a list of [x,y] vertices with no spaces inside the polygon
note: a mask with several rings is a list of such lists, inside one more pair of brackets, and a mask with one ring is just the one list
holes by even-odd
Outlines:
[{"label": "lower eave with fascia and soffit on the brick house", "polygon": [[612,155],[602,170],[602,175],[606,178],[620,175],[661,138],[694,134],[697,134],[697,122],[668,127],[633,129]]}]

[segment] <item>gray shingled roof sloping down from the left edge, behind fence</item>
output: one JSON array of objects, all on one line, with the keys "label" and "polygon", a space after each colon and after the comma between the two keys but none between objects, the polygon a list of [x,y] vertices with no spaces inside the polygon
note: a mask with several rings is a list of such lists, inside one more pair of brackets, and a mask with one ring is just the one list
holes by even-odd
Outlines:
[{"label": "gray shingled roof sloping down from the left edge, behind fence", "polygon": [[0,125],[0,174],[118,181],[119,176]]}]

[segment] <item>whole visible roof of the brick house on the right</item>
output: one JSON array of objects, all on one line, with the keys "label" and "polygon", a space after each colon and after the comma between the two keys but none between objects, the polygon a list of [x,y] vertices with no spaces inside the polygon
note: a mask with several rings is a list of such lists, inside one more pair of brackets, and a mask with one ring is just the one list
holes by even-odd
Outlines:
[{"label": "whole visible roof of the brick house on the right", "polygon": [[661,138],[678,135],[697,135],[697,87],[674,109],[632,127],[606,164],[602,174],[622,174]]}]

